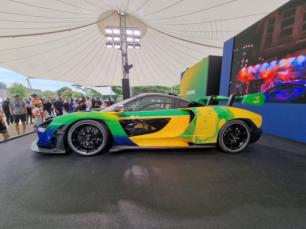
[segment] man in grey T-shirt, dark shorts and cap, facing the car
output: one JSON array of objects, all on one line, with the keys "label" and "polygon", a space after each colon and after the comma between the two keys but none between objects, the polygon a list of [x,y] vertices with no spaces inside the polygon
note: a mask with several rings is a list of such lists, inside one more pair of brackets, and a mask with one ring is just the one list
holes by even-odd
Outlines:
[{"label": "man in grey T-shirt, dark shorts and cap, facing the car", "polygon": [[14,100],[9,102],[9,112],[13,116],[15,128],[17,131],[17,135],[20,135],[19,132],[19,121],[21,121],[23,132],[25,133],[25,120],[26,120],[26,113],[27,113],[27,107],[25,104],[25,101],[19,100],[18,94],[13,94]]}]

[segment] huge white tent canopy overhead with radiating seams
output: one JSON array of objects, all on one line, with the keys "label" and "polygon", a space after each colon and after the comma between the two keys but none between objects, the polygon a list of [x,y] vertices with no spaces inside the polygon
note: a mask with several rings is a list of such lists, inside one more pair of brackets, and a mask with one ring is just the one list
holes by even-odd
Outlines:
[{"label": "huge white tent canopy overhead with radiating seams", "polygon": [[28,78],[83,86],[121,85],[121,51],[105,46],[105,26],[141,29],[128,50],[130,86],[179,83],[180,73],[286,0],[2,0],[0,67]]}]

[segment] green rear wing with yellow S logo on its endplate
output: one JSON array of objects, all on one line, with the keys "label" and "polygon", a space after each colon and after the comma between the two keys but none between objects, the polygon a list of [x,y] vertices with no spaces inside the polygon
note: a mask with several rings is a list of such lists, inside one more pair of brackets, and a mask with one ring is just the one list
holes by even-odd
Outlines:
[{"label": "green rear wing with yellow S logo on its endplate", "polygon": [[227,101],[227,106],[232,106],[234,101],[242,101],[243,104],[252,106],[262,106],[265,102],[266,96],[263,93],[248,94],[247,96],[239,96],[239,94],[231,94],[229,97],[222,95],[205,96],[198,98],[197,102],[205,104],[206,106],[212,105],[213,101]]}]

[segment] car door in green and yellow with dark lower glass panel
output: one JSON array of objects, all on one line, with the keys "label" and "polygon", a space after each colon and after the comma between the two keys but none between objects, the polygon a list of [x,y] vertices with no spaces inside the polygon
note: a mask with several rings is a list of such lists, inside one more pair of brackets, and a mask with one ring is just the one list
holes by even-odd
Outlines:
[{"label": "car door in green and yellow with dark lower glass panel", "polygon": [[118,121],[131,141],[138,146],[161,147],[176,137],[180,113],[174,98],[148,95],[124,105]]}]

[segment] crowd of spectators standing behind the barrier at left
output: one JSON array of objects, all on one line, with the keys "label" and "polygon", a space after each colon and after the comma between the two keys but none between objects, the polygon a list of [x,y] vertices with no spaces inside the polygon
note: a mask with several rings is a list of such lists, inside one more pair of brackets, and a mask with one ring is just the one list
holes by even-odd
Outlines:
[{"label": "crowd of spectators standing behind the barrier at left", "polygon": [[[15,125],[17,135],[25,133],[26,125],[33,124],[36,128],[43,120],[50,119],[51,115],[61,116],[68,113],[84,111],[100,107],[108,107],[119,102],[117,98],[108,98],[102,100],[99,97],[89,98],[70,98],[63,99],[58,97],[53,100],[52,96],[48,98],[38,98],[38,95],[33,93],[31,97],[20,99],[18,94],[13,94],[13,99],[2,99],[0,112],[0,133],[4,139],[9,137],[6,125]],[[22,133],[19,130],[19,122],[22,125]]]}]

